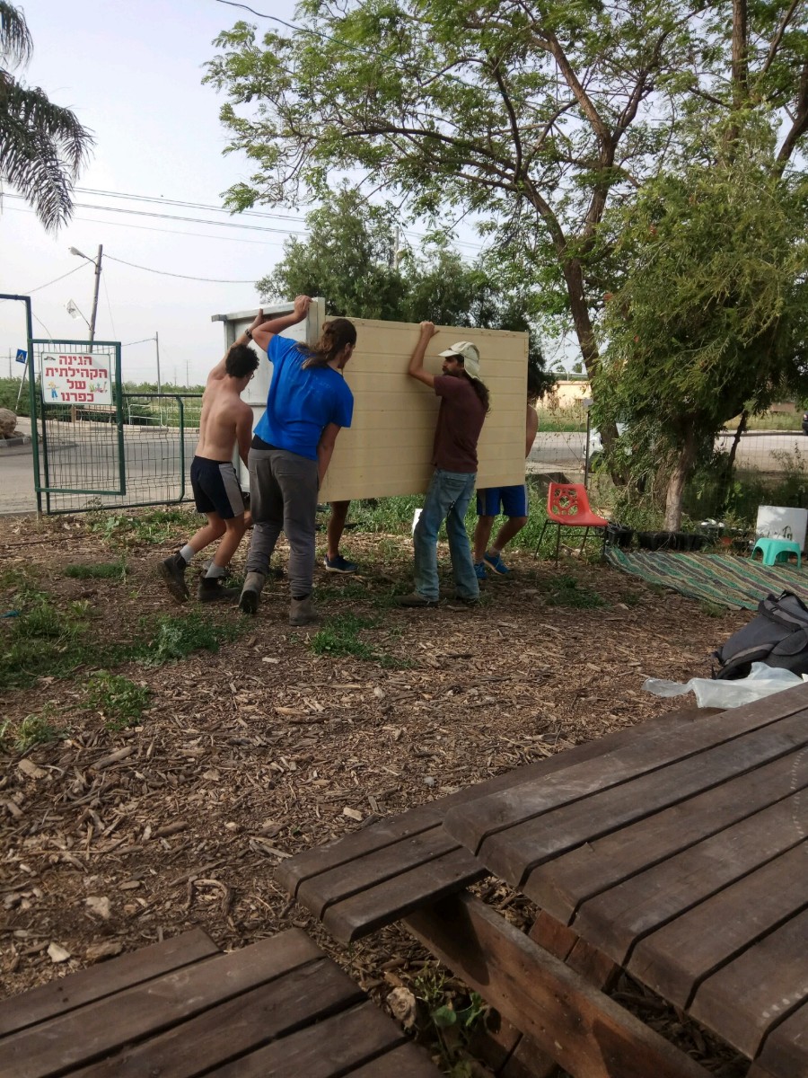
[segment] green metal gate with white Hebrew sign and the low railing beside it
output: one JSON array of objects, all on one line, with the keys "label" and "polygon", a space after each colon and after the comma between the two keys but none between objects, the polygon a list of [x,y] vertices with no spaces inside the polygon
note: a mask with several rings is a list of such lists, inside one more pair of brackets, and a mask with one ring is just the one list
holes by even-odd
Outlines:
[{"label": "green metal gate with white Hebrew sign and the low railing beside it", "polygon": [[127,392],[117,342],[31,343],[31,443],[40,511],[185,501],[201,395]]}]

